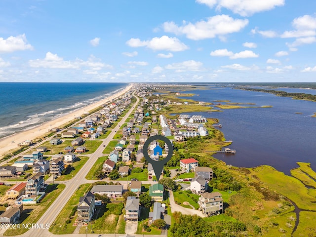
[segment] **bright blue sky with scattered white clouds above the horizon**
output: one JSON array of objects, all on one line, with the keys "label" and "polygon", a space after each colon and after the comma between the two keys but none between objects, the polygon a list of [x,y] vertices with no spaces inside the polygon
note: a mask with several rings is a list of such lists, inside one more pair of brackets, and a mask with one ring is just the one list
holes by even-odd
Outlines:
[{"label": "bright blue sky with scattered white clouds above the horizon", "polygon": [[316,82],[316,1],[1,0],[0,81]]}]

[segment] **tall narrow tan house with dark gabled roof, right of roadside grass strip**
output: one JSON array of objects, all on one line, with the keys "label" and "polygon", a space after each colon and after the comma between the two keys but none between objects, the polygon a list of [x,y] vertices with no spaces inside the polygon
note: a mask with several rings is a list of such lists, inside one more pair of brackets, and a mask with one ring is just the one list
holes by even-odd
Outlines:
[{"label": "tall narrow tan house with dark gabled roof, right of roadside grass strip", "polygon": [[95,197],[91,192],[87,192],[83,197],[79,198],[79,205],[77,207],[78,221],[89,222],[94,213]]}]

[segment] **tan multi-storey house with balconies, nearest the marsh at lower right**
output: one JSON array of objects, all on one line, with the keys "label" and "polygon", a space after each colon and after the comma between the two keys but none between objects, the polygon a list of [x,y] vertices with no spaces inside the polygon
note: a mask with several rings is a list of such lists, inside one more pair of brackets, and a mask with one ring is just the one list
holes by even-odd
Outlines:
[{"label": "tan multi-storey house with balconies, nearest the marsh at lower right", "polygon": [[201,194],[197,203],[208,216],[223,213],[223,198],[219,192]]}]

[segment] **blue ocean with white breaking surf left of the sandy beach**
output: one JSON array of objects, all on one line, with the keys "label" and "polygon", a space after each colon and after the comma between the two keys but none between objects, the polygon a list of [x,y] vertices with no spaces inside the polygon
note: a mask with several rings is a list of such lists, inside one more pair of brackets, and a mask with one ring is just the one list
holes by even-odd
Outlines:
[{"label": "blue ocean with white breaking surf left of the sandy beach", "polygon": [[102,100],[127,83],[0,82],[0,138]]}]

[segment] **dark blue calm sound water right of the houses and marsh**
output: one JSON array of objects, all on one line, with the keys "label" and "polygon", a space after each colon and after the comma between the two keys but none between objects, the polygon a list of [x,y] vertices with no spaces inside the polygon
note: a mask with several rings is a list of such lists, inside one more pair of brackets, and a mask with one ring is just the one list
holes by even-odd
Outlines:
[{"label": "dark blue calm sound water right of the houses and marsh", "polygon": [[[226,109],[223,112],[195,112],[206,118],[219,118],[219,128],[226,140],[232,140],[235,155],[215,154],[214,157],[237,167],[271,165],[290,174],[296,162],[310,162],[316,170],[316,102],[293,100],[271,93],[233,89],[232,86],[204,85],[206,90],[192,90],[190,99],[217,104],[216,100],[235,103],[255,103],[253,106],[272,105],[272,108]],[[290,92],[303,92],[301,88],[278,88]],[[315,94],[316,90],[306,90]],[[199,96],[197,96],[199,94]],[[188,97],[182,97],[188,98]],[[212,105],[212,107],[214,107]],[[248,105],[247,105],[248,106]],[[216,107],[214,107],[216,109]],[[218,108],[217,108],[218,109]],[[296,114],[302,113],[302,114]],[[186,113],[187,114],[187,113]]]}]

